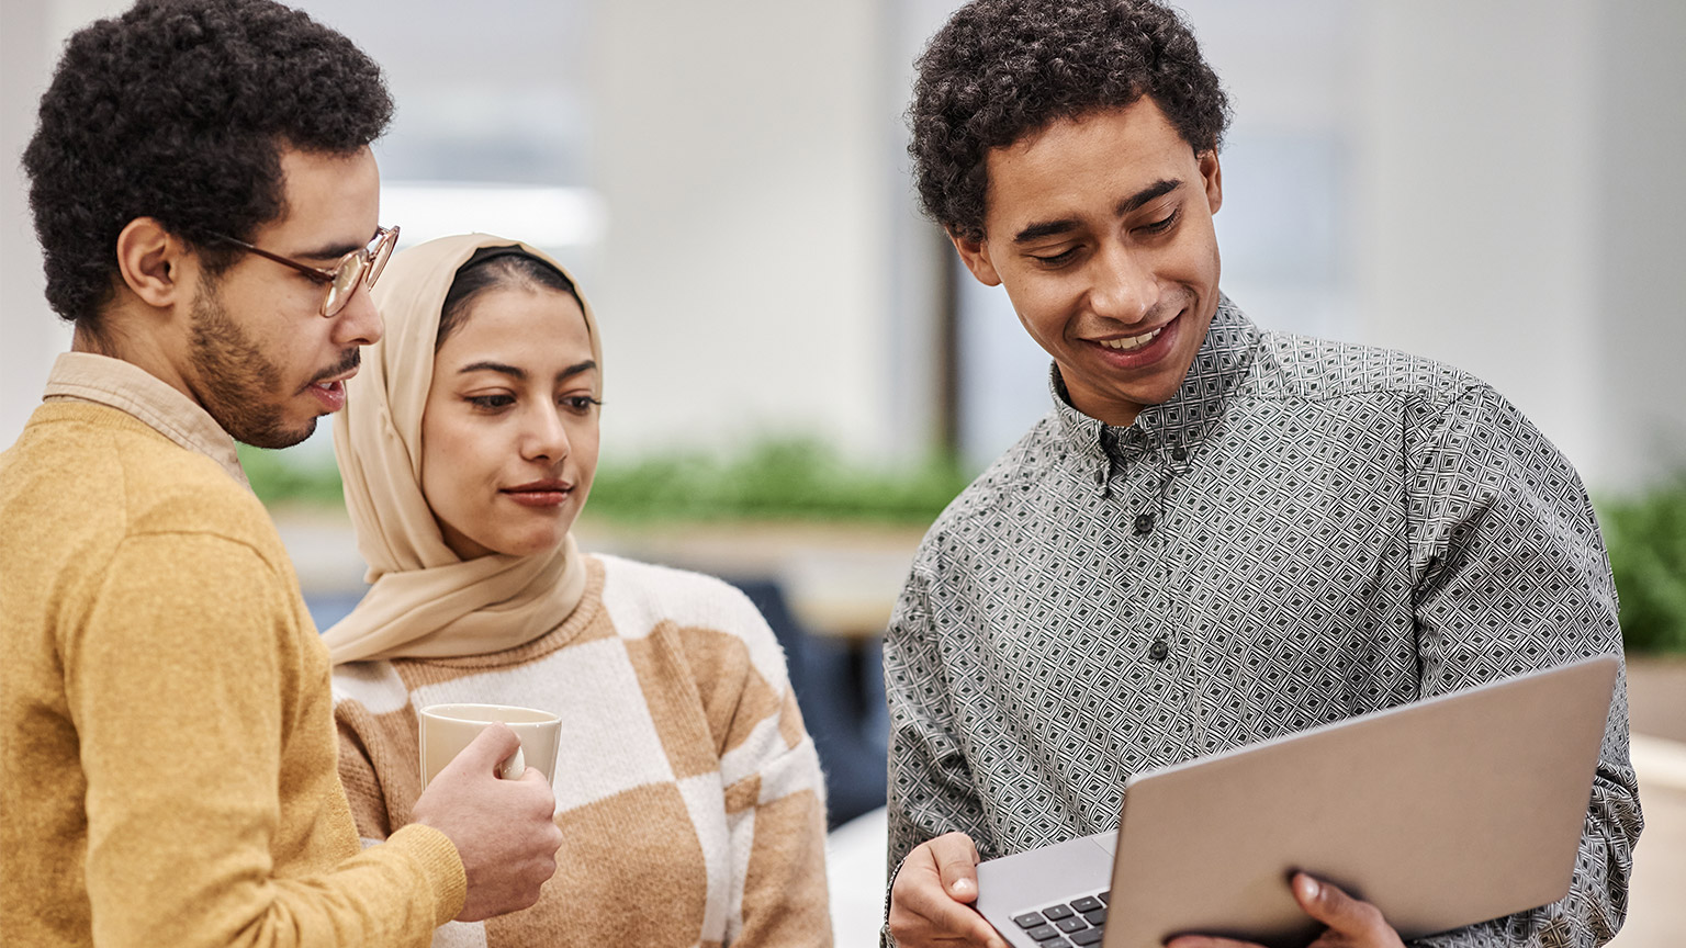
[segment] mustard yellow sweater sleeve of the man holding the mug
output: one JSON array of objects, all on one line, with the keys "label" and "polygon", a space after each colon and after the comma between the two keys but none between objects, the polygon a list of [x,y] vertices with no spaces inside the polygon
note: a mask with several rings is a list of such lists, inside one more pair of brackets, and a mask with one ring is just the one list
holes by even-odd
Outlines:
[{"label": "mustard yellow sweater sleeve of the man holding the mug", "polygon": [[[94,943],[427,945],[462,902],[448,838],[418,827],[359,855],[349,821],[287,818],[330,811],[339,783],[283,577],[238,541],[167,533],[125,540],[99,582],[61,633]],[[324,759],[300,778],[310,741]],[[283,796],[290,779],[307,784]]]}]

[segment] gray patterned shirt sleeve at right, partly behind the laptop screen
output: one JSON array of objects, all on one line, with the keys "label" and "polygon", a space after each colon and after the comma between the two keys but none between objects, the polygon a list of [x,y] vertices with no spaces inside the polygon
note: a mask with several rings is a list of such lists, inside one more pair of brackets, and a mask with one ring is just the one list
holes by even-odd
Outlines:
[{"label": "gray patterned shirt sleeve at right, partly behind the laptop screen", "polygon": [[[1408,459],[1408,501],[1423,697],[1585,656],[1622,654],[1598,523],[1580,477],[1556,447],[1487,386],[1470,388],[1425,418],[1421,432]],[[1624,671],[1570,894],[1420,945],[1608,941],[1627,913],[1640,827]]]}]

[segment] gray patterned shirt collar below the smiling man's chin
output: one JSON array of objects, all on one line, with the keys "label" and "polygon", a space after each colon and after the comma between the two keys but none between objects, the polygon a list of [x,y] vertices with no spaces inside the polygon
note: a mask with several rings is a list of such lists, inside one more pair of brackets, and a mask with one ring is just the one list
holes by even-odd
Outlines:
[{"label": "gray patterned shirt collar below the smiling man's chin", "polygon": [[1162,405],[1148,405],[1128,427],[1106,425],[1071,403],[1059,366],[1049,369],[1054,413],[1060,432],[1081,452],[1106,457],[1152,444],[1184,445],[1205,437],[1224,413],[1229,393],[1246,378],[1258,347],[1259,331],[1229,297],[1219,294],[1217,312],[1194,354],[1182,386]]}]

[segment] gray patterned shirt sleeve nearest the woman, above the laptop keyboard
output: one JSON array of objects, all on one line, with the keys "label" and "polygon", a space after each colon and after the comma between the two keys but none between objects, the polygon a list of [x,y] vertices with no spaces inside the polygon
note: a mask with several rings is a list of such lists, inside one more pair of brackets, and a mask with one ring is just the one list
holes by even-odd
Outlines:
[{"label": "gray patterned shirt sleeve nearest the woman, above the laptop keyboard", "polygon": [[890,705],[890,882],[914,847],[942,833],[969,835],[985,859],[996,850],[971,766],[956,737],[929,589],[922,550],[883,639],[883,692]]}]

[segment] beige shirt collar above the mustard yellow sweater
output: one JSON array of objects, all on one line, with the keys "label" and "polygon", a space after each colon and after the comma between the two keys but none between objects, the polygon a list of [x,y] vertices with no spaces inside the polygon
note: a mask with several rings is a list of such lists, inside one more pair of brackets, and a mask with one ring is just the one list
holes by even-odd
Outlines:
[{"label": "beige shirt collar above the mustard yellow sweater", "polygon": [[91,401],[126,412],[160,435],[223,466],[246,489],[234,439],[204,408],[147,369],[93,353],[64,353],[52,363],[44,401]]}]

